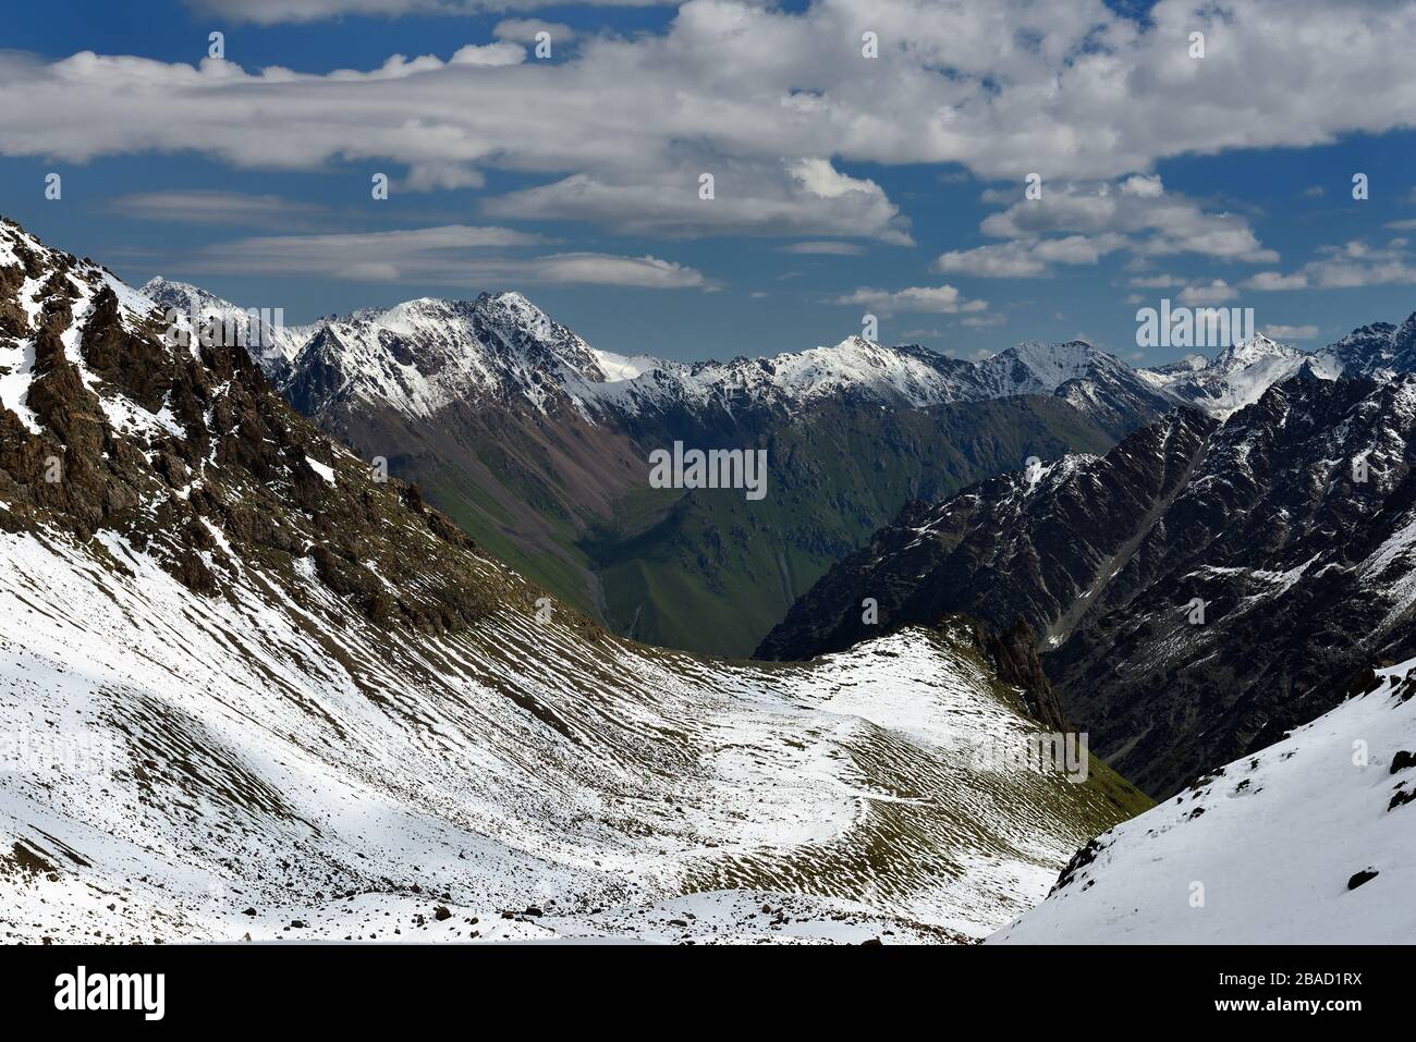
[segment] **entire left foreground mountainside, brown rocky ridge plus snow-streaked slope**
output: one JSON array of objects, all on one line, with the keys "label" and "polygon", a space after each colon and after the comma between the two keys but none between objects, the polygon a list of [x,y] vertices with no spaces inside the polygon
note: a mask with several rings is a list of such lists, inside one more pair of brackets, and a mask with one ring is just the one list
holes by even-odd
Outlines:
[{"label": "entire left foreground mountainside, brown rocky ridge plus snow-streaked slope", "polygon": [[1147,803],[980,762],[1054,709],[1017,634],[633,644],[164,327],[0,222],[11,940],[949,941]]}]

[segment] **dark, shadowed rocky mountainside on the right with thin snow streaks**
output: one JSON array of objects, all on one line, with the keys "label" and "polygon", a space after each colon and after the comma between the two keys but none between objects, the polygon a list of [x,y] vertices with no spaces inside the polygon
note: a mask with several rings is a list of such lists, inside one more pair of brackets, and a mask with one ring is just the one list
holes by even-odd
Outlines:
[{"label": "dark, shadowed rocky mountainside on the right with thin snow streaks", "polygon": [[759,654],[953,610],[1021,617],[1093,748],[1171,793],[1331,708],[1365,661],[1413,650],[1413,426],[1409,374],[1306,371],[1223,425],[1181,409],[1103,457],[908,507]]}]

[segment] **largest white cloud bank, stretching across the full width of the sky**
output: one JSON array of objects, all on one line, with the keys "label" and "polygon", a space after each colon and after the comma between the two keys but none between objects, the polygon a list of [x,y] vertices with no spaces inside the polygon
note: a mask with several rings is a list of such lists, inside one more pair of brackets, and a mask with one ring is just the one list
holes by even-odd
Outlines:
[{"label": "largest white cloud bank, stretching across the full width of the sky", "polygon": [[[193,3],[263,23],[541,7]],[[878,185],[845,173],[851,163],[957,164],[1018,184],[1041,171],[1044,202],[998,215],[990,236],[1120,232],[1143,253],[1272,265],[1242,218],[1172,198],[1150,171],[1174,156],[1416,125],[1409,14],[1402,3],[1160,0],[1138,23],[1102,0],[820,0],[804,10],[688,0],[661,31],[590,35],[558,62],[525,61],[510,38],[469,41],[446,61],[395,55],[327,74],[6,52],[0,154],[85,161],[193,150],[290,170],[377,161],[418,168],[409,183],[428,185],[446,184],[447,170],[472,184],[469,171],[500,167],[548,178],[539,194],[503,200],[501,212],[630,232],[688,218],[675,191],[694,180],[681,178],[714,171],[721,205],[694,212],[685,234],[762,222],[772,234],[886,242],[906,241],[908,225]],[[862,25],[879,34],[878,59],[860,54]],[[1184,45],[1195,30],[1209,42],[1204,61]],[[745,177],[733,185],[735,171]],[[1100,201],[1058,188],[1117,178]],[[636,221],[636,210],[647,215]]]}]

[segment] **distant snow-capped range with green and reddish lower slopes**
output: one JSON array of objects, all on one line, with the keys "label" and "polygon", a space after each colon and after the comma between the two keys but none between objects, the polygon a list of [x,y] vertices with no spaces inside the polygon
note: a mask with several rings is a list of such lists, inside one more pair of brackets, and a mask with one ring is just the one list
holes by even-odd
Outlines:
[{"label": "distant snow-capped range with green and reddish lower slopes", "polygon": [[[174,283],[144,292],[238,310]],[[1082,343],[963,362],[851,337],[681,364],[596,351],[520,293],[413,300],[289,334],[303,347],[265,365],[326,433],[387,459],[610,629],[729,655],[749,654],[910,498],[1029,456],[1103,450],[1170,405]],[[675,442],[766,450],[766,497],[650,487],[650,453]]]}]

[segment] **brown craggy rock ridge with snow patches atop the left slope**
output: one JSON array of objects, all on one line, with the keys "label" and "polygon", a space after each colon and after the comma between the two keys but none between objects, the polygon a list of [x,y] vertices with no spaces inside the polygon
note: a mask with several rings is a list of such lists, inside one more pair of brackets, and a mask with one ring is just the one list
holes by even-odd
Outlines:
[{"label": "brown craggy rock ridge with snow patches atop the left slope", "polygon": [[[365,617],[426,633],[534,597],[449,566],[443,551],[466,559],[472,539],[416,490],[333,450],[242,347],[169,343],[159,310],[135,310],[103,269],[14,224],[0,224],[0,256],[13,258],[0,263],[0,354],[24,381],[0,406],[6,531],[112,532],[202,596],[251,558],[307,599],[309,566]],[[405,537],[391,542],[391,527]]]}]

